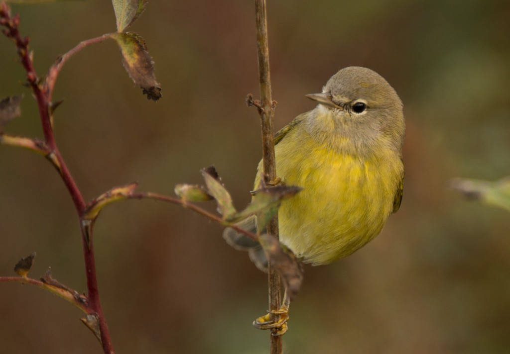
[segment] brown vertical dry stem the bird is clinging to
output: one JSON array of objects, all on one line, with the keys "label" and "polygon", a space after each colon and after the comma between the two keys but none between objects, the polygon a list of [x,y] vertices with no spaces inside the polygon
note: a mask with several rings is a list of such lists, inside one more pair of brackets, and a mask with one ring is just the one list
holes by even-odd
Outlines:
[{"label": "brown vertical dry stem the bird is clinging to", "polygon": [[[259,114],[262,124],[262,153],[264,174],[269,180],[276,179],[276,164],[274,158],[274,104],[271,97],[271,79],[269,74],[269,46],[267,36],[267,10],[265,0],[255,0],[255,16],[257,22],[257,53],[259,61],[259,83],[261,108]],[[278,216],[267,226],[267,232],[278,237]],[[276,270],[268,265],[269,310],[278,310],[280,304],[280,277]],[[282,336],[271,336],[271,354],[282,353]]]}]

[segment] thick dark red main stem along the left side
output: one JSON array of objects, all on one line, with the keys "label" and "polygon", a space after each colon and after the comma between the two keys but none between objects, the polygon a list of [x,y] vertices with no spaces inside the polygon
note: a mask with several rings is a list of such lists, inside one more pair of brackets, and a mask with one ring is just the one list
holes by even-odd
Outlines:
[{"label": "thick dark red main stem along the left side", "polygon": [[[45,81],[41,81],[39,79],[34,69],[32,58],[28,51],[29,38],[28,37],[21,38],[21,35],[18,31],[19,15],[11,17],[9,9],[5,3],[1,4],[0,11],[1,11],[0,18],[2,18],[1,24],[6,26],[4,34],[7,37],[12,38],[16,43],[18,56],[21,59],[21,64],[23,65],[25,71],[27,71],[27,80],[32,89],[32,92],[34,93],[39,108],[39,115],[41,118],[44,141],[48,149],[51,151],[50,155],[53,155],[52,159],[55,158],[58,161],[58,165],[55,164],[54,165],[57,167],[60,176],[69,192],[69,195],[71,196],[71,199],[74,203],[74,207],[78,213],[78,217],[80,218],[81,222],[81,216],[85,210],[85,201],[82,197],[80,189],[78,188],[78,185],[74,182],[74,179],[72,178],[65,164],[65,161],[57,148],[52,121],[50,119],[49,87]],[[106,320],[103,314],[103,310],[101,309],[101,304],[99,300],[92,237],[91,235],[89,235],[89,237],[90,241],[87,244],[85,234],[82,228],[83,254],[85,259],[85,273],[87,278],[87,290],[88,290],[87,295],[90,307],[96,314],[99,322],[103,350],[105,353],[112,354],[114,353],[114,349],[111,343],[108,326],[106,324]]]}]

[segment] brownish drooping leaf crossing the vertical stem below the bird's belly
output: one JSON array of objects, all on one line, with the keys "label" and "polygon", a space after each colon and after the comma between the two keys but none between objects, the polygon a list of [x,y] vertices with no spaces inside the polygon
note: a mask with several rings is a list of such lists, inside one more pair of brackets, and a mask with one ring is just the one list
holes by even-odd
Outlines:
[{"label": "brownish drooping leaf crossing the vertical stem below the bird's belly", "polygon": [[287,295],[292,300],[299,292],[303,281],[303,270],[300,263],[294,254],[288,253],[289,250],[288,252],[283,250],[281,243],[273,235],[262,234],[259,237],[259,242],[269,263],[282,277]]}]

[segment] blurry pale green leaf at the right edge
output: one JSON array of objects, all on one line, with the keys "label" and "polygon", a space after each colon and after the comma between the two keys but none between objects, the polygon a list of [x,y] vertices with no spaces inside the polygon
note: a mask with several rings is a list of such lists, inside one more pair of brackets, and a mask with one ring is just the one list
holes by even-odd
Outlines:
[{"label": "blurry pale green leaf at the right edge", "polygon": [[510,211],[510,176],[494,182],[456,178],[450,185],[469,199]]}]

